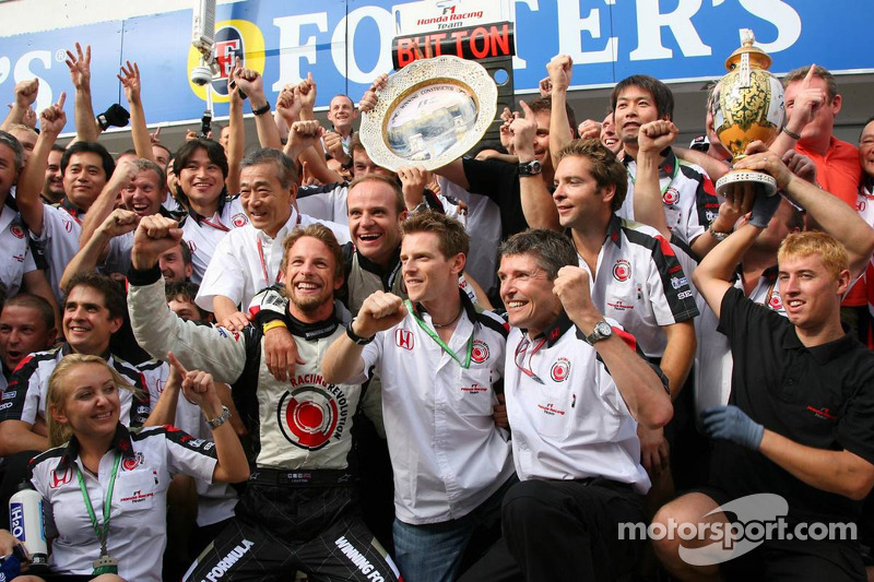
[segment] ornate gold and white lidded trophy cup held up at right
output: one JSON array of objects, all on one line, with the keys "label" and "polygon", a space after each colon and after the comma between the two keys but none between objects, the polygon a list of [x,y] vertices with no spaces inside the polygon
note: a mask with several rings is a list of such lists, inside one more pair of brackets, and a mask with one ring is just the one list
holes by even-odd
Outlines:
[{"label": "ornate gold and white lidded trophy cup held up at right", "polygon": [[[753,31],[741,29],[741,48],[725,61],[729,73],[723,76],[713,95],[713,129],[719,141],[732,154],[732,164],[745,156],[751,142],[769,144],[783,129],[786,106],[783,86],[768,72],[771,58],[760,48]],[[739,182],[752,182],[756,192],[777,193],[777,180],[761,171],[731,170],[717,180],[717,193]]]}]

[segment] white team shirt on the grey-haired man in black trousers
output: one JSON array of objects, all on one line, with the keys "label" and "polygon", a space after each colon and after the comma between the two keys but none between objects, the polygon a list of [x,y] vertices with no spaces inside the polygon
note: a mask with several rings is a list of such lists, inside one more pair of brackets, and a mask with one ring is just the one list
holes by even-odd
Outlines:
[{"label": "white team shirt on the grey-haired man in black trousers", "polygon": [[522,480],[606,477],[645,494],[650,480],[639,462],[637,421],[582,337],[564,311],[536,337],[510,330],[504,388],[516,474]]}]

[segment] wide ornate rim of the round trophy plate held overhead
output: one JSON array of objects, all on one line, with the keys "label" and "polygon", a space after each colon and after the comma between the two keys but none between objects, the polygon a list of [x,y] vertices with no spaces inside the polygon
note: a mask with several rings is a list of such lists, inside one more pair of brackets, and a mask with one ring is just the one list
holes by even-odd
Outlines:
[{"label": "wide ornate rim of the round trophy plate held overhead", "polygon": [[[454,139],[454,143],[439,155],[426,159],[403,157],[389,144],[389,121],[401,104],[423,88],[452,85],[463,90],[473,100],[476,118],[473,127]],[[379,166],[397,171],[402,166],[423,166],[428,170],[442,167],[460,157],[483,138],[495,119],[498,90],[485,68],[474,61],[458,57],[436,57],[412,62],[389,76],[386,87],[378,93],[376,107],[362,114],[358,130],[362,143],[370,159]]]}]

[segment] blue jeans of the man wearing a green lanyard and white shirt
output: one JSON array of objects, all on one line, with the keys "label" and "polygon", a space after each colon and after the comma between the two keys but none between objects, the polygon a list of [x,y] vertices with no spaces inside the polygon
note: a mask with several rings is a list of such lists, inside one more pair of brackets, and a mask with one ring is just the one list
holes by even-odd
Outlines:
[{"label": "blue jeans of the man wearing a green lanyard and white shirt", "polygon": [[395,519],[392,525],[394,563],[404,582],[456,580],[464,548],[474,530],[500,520],[504,494],[518,482],[513,475],[476,509],[457,520],[412,525]]}]

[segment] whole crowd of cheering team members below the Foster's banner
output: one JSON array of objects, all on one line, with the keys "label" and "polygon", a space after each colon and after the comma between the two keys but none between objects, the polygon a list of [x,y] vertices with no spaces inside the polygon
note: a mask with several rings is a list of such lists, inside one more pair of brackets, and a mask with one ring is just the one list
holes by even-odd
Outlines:
[{"label": "whole crowd of cheering team members below the Foster's banner", "polygon": [[[95,116],[67,56],[75,138],[36,79],[0,131],[0,501],[36,489],[51,541],[17,580],[865,579],[874,121],[834,136],[826,69],[732,161],[647,75],[577,124],[558,56],[432,173],[358,139],[386,75],[328,129],[311,75],[271,104],[237,59],[227,124],[167,144],[149,71]],[[756,494],[859,535],[720,538]],[[672,523],[710,528],[623,536]]]}]

